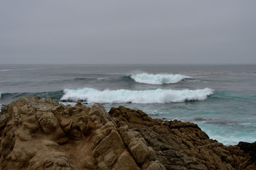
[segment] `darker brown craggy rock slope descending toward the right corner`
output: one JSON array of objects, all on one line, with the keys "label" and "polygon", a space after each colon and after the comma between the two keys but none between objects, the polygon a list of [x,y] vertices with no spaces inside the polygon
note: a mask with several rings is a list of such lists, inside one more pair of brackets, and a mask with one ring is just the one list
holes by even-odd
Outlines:
[{"label": "darker brown craggy rock slope descending toward the right corner", "polygon": [[[148,148],[154,149],[156,161],[161,162],[166,169],[256,169],[248,155],[238,147],[227,147],[210,140],[196,124],[154,120],[142,111],[122,106],[112,108],[110,115],[119,126],[124,141],[130,140],[127,137],[129,132],[122,128],[127,125],[134,135],[135,132],[139,133]],[[142,145],[143,142],[138,140],[136,143]],[[149,168],[153,166],[156,167],[151,164]]]}]

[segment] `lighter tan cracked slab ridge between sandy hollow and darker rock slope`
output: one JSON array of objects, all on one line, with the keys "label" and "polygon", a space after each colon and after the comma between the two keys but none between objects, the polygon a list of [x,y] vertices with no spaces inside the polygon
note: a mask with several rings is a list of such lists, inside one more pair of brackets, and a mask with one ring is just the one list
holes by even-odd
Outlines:
[{"label": "lighter tan cracked slab ridge between sandy hollow and darker rock slope", "polygon": [[[92,156],[97,160],[99,168],[140,169],[136,164],[137,160],[139,160],[139,154],[135,154],[137,157],[132,157],[138,149],[132,149],[132,151],[134,151],[132,155],[128,154],[131,149],[125,147],[122,135],[120,135],[122,132],[126,132],[128,127],[117,130],[117,125],[107,111],[105,111],[105,108],[97,103],[92,106],[89,115],[92,116],[92,122],[96,123],[97,127],[99,127],[95,131],[95,135],[92,136]],[[132,139],[132,137],[130,138]],[[124,164],[125,159],[129,161],[129,164]],[[146,158],[144,158],[143,162],[139,162],[139,165],[142,165],[145,159]]]}]

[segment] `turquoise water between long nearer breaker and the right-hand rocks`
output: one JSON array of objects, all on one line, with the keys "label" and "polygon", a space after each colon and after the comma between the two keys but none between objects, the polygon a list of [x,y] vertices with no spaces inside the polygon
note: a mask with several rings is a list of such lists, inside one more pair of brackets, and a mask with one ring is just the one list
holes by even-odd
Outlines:
[{"label": "turquoise water between long nearer breaker and the right-hand rocks", "polygon": [[[212,139],[225,145],[237,145],[240,141],[255,142],[256,95],[230,94],[215,91],[205,101],[166,104],[127,104],[141,109],[153,118],[182,120],[198,124]],[[107,109],[118,104],[105,104]]]}]

